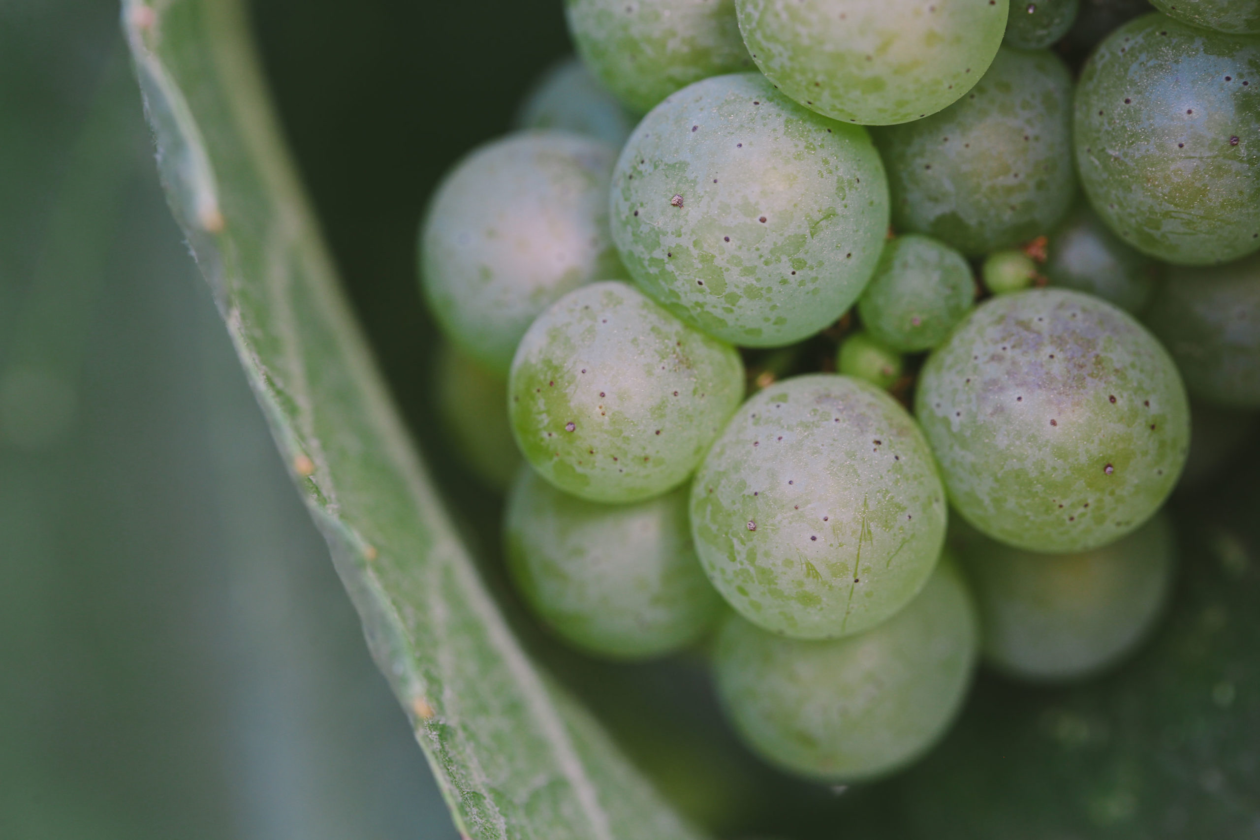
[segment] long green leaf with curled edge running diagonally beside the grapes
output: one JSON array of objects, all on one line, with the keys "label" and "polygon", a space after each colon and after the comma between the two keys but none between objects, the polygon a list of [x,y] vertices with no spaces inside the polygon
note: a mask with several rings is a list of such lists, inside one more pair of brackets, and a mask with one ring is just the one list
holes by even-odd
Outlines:
[{"label": "long green leaf with curled edge running diagonally beside the grapes", "polygon": [[241,0],[125,0],[159,166],[258,402],[467,835],[696,837],[513,635],[338,286]]}]

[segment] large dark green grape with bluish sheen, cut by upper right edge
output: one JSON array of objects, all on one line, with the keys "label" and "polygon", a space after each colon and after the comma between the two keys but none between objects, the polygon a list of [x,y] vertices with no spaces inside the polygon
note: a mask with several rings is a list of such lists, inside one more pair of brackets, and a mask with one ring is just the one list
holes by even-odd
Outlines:
[{"label": "large dark green grape with bluish sheen, cut by upper right edge", "polygon": [[1081,72],[1075,126],[1090,203],[1138,251],[1201,266],[1260,248],[1260,40],[1138,18]]}]

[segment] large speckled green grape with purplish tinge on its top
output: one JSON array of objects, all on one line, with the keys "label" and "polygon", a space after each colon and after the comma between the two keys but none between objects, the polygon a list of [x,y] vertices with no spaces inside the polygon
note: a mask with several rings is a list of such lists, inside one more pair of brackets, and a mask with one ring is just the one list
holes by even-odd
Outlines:
[{"label": "large speckled green grape with purplish tinge on its top", "polygon": [[1084,552],[1139,528],[1189,443],[1186,389],[1159,341],[1063,288],[978,307],[929,356],[915,413],[956,510],[1032,552]]}]

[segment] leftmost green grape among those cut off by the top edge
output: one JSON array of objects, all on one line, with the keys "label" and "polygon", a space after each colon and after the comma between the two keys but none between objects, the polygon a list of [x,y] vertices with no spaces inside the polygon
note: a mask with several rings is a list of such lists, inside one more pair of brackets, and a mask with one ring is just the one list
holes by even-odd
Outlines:
[{"label": "leftmost green grape among those cut off by the top edge", "polygon": [[587,67],[638,113],[693,82],[752,69],[733,0],[564,0],[564,16]]}]

